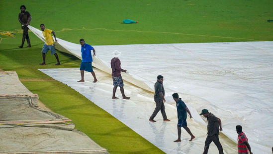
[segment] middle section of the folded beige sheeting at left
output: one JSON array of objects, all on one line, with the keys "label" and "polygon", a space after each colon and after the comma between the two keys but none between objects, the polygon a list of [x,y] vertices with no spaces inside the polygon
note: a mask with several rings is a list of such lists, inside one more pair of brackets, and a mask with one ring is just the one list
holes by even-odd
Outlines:
[{"label": "middle section of the folded beige sheeting at left", "polygon": [[71,121],[68,118],[38,107],[38,95],[0,96],[1,118],[3,123]]}]

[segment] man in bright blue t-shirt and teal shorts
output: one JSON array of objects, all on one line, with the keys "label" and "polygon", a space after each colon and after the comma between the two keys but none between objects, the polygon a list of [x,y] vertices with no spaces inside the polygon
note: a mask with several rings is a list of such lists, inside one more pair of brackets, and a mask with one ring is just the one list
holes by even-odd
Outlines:
[{"label": "man in bright blue t-shirt and teal shorts", "polygon": [[80,44],[82,45],[82,59],[83,59],[82,63],[81,63],[81,67],[80,67],[82,79],[78,82],[85,82],[85,80],[84,80],[85,72],[84,71],[91,72],[91,74],[94,78],[93,82],[97,82],[95,72],[93,71],[93,68],[92,68],[92,61],[93,60],[92,60],[91,50],[93,50],[94,56],[96,55],[96,53],[95,53],[96,51],[91,45],[87,44],[83,38],[80,39]]}]

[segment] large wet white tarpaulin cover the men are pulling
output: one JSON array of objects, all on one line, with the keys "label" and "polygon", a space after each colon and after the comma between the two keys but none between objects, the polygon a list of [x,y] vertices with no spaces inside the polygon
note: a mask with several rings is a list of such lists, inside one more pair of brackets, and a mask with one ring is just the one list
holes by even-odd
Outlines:
[{"label": "large wet white tarpaulin cover the men are pulling", "polygon": [[[35,30],[33,27],[30,29]],[[39,35],[39,32],[34,33]],[[59,48],[63,52],[71,52],[77,57],[81,54],[79,44],[66,41],[58,44],[74,47],[66,51]],[[139,79],[153,89],[157,75],[163,75],[167,100],[165,108],[171,122],[162,122],[161,113],[155,118],[157,123],[149,122],[155,107],[153,94],[136,81],[133,84],[148,91],[125,84],[125,94],[131,99],[112,100],[109,74],[95,70],[97,83],[91,82],[90,73],[86,73],[85,83],[77,83],[79,69],[41,71],[79,91],[168,154],[202,153],[206,123],[198,114],[204,108],[222,120],[223,134],[228,138],[221,134],[220,142],[226,154],[237,153],[236,125],[243,126],[254,154],[271,153],[273,42],[104,45],[94,48],[99,61],[106,66],[112,58],[111,52],[121,51],[121,68],[128,71],[127,78],[132,76],[125,79],[130,83]],[[97,57],[93,64],[104,71],[105,68],[101,67],[105,65],[96,65]],[[196,137],[192,142],[188,142],[189,135],[184,130],[182,143],[173,142],[177,139],[177,111],[172,99],[175,92],[180,94],[192,113],[193,120],[187,120]],[[209,153],[217,153],[213,144]]]}]

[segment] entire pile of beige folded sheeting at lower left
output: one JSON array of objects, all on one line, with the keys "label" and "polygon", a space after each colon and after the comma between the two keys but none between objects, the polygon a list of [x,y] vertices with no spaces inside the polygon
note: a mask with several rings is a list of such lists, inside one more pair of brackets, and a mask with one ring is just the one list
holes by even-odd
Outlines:
[{"label": "entire pile of beige folded sheeting at lower left", "polygon": [[70,119],[38,107],[14,71],[0,72],[1,154],[109,154]]}]

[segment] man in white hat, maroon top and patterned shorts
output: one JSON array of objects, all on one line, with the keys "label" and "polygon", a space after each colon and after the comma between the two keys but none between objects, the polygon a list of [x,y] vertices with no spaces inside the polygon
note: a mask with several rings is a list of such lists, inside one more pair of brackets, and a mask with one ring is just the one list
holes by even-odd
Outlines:
[{"label": "man in white hat, maroon top and patterned shorts", "polygon": [[115,96],[116,94],[116,89],[117,86],[119,86],[120,88],[120,92],[122,94],[122,98],[123,99],[130,99],[130,97],[126,97],[125,93],[124,93],[124,88],[123,88],[123,79],[121,77],[121,72],[127,72],[127,70],[122,69],[120,67],[120,60],[118,59],[118,57],[121,55],[121,52],[119,52],[118,50],[115,50],[114,52],[112,52],[112,55],[114,58],[111,59],[111,68],[112,68],[112,79],[113,79],[113,96],[112,99],[116,99],[117,97]]}]

